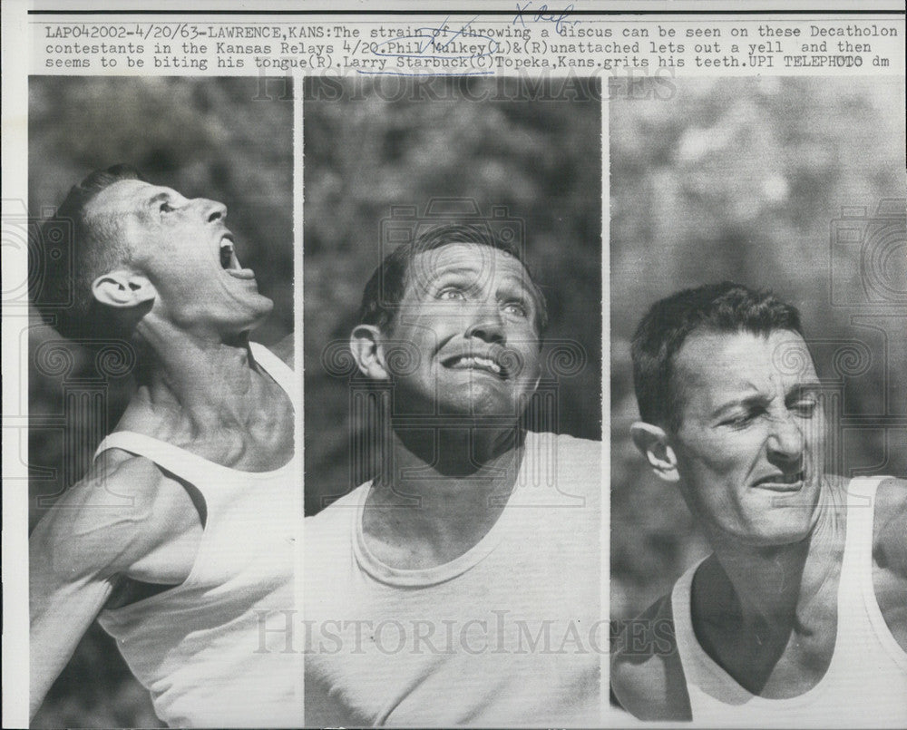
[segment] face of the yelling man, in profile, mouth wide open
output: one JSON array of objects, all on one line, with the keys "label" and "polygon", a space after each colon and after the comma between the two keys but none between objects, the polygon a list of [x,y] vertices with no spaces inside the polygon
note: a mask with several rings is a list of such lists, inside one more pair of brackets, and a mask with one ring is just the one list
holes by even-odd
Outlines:
[{"label": "face of the yelling man, in profile, mouth wide open", "polygon": [[255,274],[241,268],[226,207],[186,199],[170,188],[121,180],[85,209],[90,226],[117,231],[132,252],[132,268],[154,285],[154,310],[184,328],[214,323],[235,332],[258,325],[273,307],[258,294]]}]

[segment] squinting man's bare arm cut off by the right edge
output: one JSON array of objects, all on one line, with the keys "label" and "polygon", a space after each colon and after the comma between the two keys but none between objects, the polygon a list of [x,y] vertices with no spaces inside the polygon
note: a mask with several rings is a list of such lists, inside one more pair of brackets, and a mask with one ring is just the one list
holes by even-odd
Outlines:
[{"label": "squinting man's bare arm cut off by the right edge", "polygon": [[885,623],[907,651],[907,481],[886,479],[875,492],[873,586]]}]

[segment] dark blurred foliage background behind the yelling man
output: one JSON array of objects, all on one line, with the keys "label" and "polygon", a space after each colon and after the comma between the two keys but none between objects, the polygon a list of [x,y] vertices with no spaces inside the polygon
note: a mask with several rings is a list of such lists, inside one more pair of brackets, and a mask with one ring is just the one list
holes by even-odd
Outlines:
[{"label": "dark blurred foliage background behind the yelling man", "polygon": [[[293,104],[262,98],[255,78],[41,77],[29,80],[29,215],[47,217],[92,170],[128,162],[153,184],[224,202],[243,266],[274,312],[253,337],[293,329]],[[291,94],[284,94],[291,97]],[[92,378],[93,358],[71,346],[72,368],[49,375],[35,351],[58,340],[33,316],[29,331],[30,527],[80,474],[96,447],[80,423],[59,423],[63,383]],[[106,430],[130,394],[128,374],[106,389]],[[73,470],[74,467],[74,470]],[[111,638],[93,626],[34,718],[34,727],[160,725]]]}]

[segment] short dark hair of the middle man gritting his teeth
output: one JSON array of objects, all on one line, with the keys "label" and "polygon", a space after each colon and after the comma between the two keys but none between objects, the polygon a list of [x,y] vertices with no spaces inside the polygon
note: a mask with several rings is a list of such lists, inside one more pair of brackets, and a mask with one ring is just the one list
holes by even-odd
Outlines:
[{"label": "short dark hair of the middle man gritting his teeth", "polygon": [[473,223],[452,223],[424,230],[409,243],[401,244],[385,256],[371,278],[368,279],[359,307],[358,322],[375,325],[386,330],[394,321],[396,310],[410,283],[413,259],[424,251],[432,251],[453,243],[475,243],[497,248],[516,258],[529,275],[529,283],[536,299],[535,329],[541,337],[548,326],[548,305],[541,287],[532,277],[532,271],[523,258],[517,243],[494,236],[485,227]]}]

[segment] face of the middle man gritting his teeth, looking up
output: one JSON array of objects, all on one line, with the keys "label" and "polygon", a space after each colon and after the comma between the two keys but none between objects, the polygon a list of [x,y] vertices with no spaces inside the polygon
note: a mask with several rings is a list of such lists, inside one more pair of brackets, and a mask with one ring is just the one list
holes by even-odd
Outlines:
[{"label": "face of the middle man gritting his teeth, looking up", "polygon": [[[529,273],[511,255],[473,243],[417,254],[389,327],[413,366],[389,362],[398,413],[522,414],[539,378],[539,311]],[[395,345],[398,343],[398,345]]]}]

